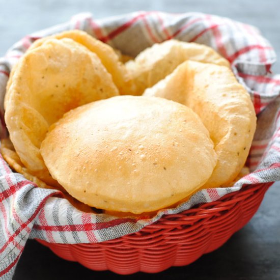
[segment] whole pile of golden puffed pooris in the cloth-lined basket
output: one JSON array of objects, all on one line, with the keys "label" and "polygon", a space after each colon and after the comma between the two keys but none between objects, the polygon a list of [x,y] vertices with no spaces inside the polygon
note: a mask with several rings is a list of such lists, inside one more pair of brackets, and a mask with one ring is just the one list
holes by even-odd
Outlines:
[{"label": "whole pile of golden puffed pooris in the cloth-lined basket", "polygon": [[130,59],[81,31],[37,40],[5,96],[10,166],[78,209],[141,214],[230,186],[256,129],[229,62],[169,40]]}]

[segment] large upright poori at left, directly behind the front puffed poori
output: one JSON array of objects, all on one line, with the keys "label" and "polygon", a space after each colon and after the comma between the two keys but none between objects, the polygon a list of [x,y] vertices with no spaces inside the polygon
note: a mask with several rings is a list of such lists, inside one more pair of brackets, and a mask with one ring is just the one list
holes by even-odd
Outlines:
[{"label": "large upright poori at left, directly behind the front puffed poori", "polygon": [[77,42],[49,39],[17,63],[5,96],[5,122],[22,163],[55,185],[40,154],[48,127],[68,110],[119,95],[96,54]]}]

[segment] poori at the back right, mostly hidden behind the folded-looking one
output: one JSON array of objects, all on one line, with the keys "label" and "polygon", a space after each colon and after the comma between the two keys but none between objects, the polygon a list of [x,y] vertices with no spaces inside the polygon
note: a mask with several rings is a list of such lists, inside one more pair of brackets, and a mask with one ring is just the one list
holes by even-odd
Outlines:
[{"label": "poori at the back right, mostly hidden behind the folded-looking one", "polygon": [[212,48],[175,39],[152,45],[139,53],[126,68],[134,82],[133,94],[141,95],[186,60],[230,67],[229,62]]}]

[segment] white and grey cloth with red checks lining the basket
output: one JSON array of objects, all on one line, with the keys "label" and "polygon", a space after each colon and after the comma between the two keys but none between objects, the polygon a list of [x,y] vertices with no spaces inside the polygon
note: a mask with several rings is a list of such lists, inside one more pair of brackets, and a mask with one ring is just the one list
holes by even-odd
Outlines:
[{"label": "white and grey cloth with red checks lining the basket", "polygon": [[276,60],[274,50],[255,27],[202,13],[135,12],[100,20],[79,14],[70,22],[24,37],[0,59],[1,137],[7,135],[3,100],[12,66],[36,39],[71,29],[84,30],[131,56],[156,42],[176,38],[206,44],[227,58],[250,93],[258,115],[247,160],[251,173],[231,188],[201,190],[188,202],[162,210],[152,218],[116,218],[75,209],[61,192],[36,187],[13,173],[0,157],[0,278],[12,277],[28,238],[53,243],[102,242],[139,231],[163,214],[215,201],[243,185],[280,180],[280,75],[270,73]]}]

